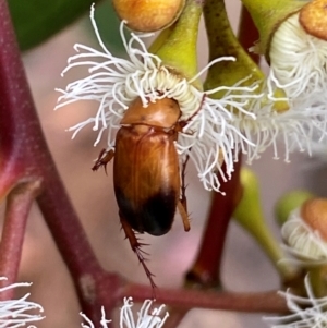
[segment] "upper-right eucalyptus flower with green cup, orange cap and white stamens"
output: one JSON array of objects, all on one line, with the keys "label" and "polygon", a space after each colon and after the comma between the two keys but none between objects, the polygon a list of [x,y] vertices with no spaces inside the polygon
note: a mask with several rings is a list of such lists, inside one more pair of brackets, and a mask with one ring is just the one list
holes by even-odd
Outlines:
[{"label": "upper-right eucalyptus flower with green cup, orange cap and white stamens", "polygon": [[327,137],[327,42],[304,26],[326,35],[324,1],[242,0],[242,3],[259,33],[252,50],[265,56],[269,72],[263,78],[263,98],[255,99],[249,108],[256,120],[240,117],[237,122],[256,147],[242,143],[241,147],[249,162],[268,146],[274,147],[275,158],[282,156],[286,161],[293,150],[311,156],[313,144],[323,144]]}]

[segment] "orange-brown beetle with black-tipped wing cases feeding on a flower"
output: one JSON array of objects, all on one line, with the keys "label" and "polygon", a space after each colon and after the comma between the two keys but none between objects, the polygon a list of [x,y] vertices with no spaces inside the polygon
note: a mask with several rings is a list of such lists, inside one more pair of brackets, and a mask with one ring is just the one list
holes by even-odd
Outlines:
[{"label": "orange-brown beetle with black-tipped wing cases feeding on a flower", "polygon": [[145,265],[142,244],[134,231],[166,234],[171,229],[177,208],[184,230],[190,230],[184,185],[187,160],[180,171],[174,145],[185,123],[179,122],[180,117],[180,107],[172,98],[149,101],[143,107],[137,97],[120,122],[114,150],[102,150],[93,167],[93,170],[101,166],[106,169],[113,158],[113,185],[120,221],[153,287],[153,275]]}]

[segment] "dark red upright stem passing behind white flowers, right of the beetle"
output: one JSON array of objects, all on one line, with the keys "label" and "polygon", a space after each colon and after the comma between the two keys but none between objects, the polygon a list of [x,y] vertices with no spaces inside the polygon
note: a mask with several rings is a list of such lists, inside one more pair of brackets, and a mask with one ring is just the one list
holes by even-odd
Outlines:
[{"label": "dark red upright stem passing behind white flowers, right of the beetle", "polygon": [[[214,38],[214,36],[213,36]],[[247,12],[242,7],[239,40],[247,50],[258,39],[258,32]],[[259,57],[254,53],[250,56],[256,62]],[[241,156],[230,181],[222,184],[221,190],[226,196],[215,193],[213,195],[207,226],[203,235],[202,245],[192,269],[186,275],[186,281],[191,284],[199,283],[203,287],[220,286],[220,263],[223,252],[225,239],[231,215],[241,196],[240,185]]]}]

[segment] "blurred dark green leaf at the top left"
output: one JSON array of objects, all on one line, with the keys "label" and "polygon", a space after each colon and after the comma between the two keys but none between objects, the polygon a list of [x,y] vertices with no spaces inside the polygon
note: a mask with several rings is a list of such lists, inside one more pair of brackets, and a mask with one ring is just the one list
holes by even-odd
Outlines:
[{"label": "blurred dark green leaf at the top left", "polygon": [[[87,20],[92,3],[96,3],[95,17],[105,44],[123,50],[119,34],[119,19],[111,1],[98,0],[10,0],[8,1],[17,40],[22,51],[29,50],[74,21]],[[90,33],[93,34],[93,33]]]}]

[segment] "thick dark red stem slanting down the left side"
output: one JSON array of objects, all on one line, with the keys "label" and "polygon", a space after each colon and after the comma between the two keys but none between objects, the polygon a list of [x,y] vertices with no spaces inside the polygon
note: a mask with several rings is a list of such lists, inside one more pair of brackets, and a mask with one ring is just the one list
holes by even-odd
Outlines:
[{"label": "thick dark red stem slanting down the left side", "polygon": [[[99,304],[89,299],[89,286],[96,290],[95,281],[102,279],[104,271],[40,130],[5,0],[0,0],[0,197],[20,181],[41,179],[43,193],[37,203],[73,277],[83,311],[98,320]],[[117,281],[116,275],[107,278]],[[107,290],[109,299],[111,292],[114,294]]]}]

